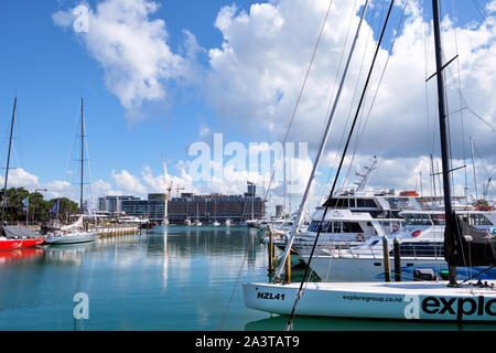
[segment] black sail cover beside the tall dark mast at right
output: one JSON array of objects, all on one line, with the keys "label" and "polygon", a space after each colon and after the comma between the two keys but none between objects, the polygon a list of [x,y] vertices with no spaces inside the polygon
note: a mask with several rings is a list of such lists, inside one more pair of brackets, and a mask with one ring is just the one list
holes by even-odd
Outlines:
[{"label": "black sail cover beside the tall dark mast at right", "polygon": [[496,265],[496,235],[471,226],[461,216],[446,222],[444,246],[444,257],[452,266]]}]

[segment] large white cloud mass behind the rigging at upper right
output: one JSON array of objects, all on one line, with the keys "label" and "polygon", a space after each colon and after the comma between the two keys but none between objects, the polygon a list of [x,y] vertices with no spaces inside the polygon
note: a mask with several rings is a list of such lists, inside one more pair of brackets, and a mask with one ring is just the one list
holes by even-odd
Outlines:
[{"label": "large white cloud mass behind the rigging at upper right", "polygon": [[[207,77],[207,97],[220,119],[238,121],[247,132],[270,131],[273,138],[282,140],[325,10],[326,4],[323,2],[280,0],[254,4],[249,12],[238,11],[233,6],[219,11],[216,26],[224,41],[220,47],[211,49],[208,52],[211,74]],[[369,11],[374,10],[380,10],[380,7],[376,4]],[[407,173],[418,174],[420,167],[417,167],[417,162],[420,159],[425,160],[430,153],[439,154],[435,79],[428,84],[429,119],[425,117],[425,73],[433,73],[434,65],[432,29],[423,21],[422,12],[418,2],[410,1],[408,17],[395,43],[392,55],[389,56],[388,68],[370,118],[367,125],[364,119],[358,121],[348,150],[348,159],[356,153],[355,162],[379,152],[385,159],[381,168],[387,172],[384,176],[393,183],[390,188],[399,188],[402,184],[411,188],[414,178]],[[357,11],[353,10],[353,1],[335,1],[292,127],[292,137],[309,141],[313,151],[321,139],[323,124],[328,115],[328,97],[337,77],[338,58],[352,14],[349,38],[357,26]],[[460,64],[462,93],[466,104],[493,127],[496,126],[496,103],[492,99],[496,90],[496,41],[492,34],[494,20],[488,17],[484,23],[472,23],[470,26],[460,26],[448,18],[443,21],[445,61],[460,55],[460,62],[455,61],[446,69],[450,111],[460,109]],[[390,29],[396,24],[397,22],[391,23]],[[349,43],[351,39],[345,55],[348,53]],[[429,49],[427,67],[425,43]],[[359,65],[366,46],[365,65],[359,76]],[[363,26],[355,50],[327,152],[337,153],[339,141],[343,140],[342,135],[347,133],[349,129],[346,119],[355,114],[375,46],[376,42],[373,41],[370,26],[367,24]],[[380,50],[364,105],[365,113],[368,111],[371,95],[387,58],[387,51]],[[352,109],[358,77],[360,83]],[[363,115],[364,118],[366,116]],[[496,157],[492,153],[496,148],[494,130],[482,124],[468,109],[464,110],[463,117],[462,136],[460,113],[451,115],[453,158],[461,161],[463,154],[467,156],[468,136],[477,136],[477,145],[482,158],[485,159],[481,163],[495,164]],[[360,143],[356,147],[357,136],[360,136]],[[421,156],[423,158],[420,158]],[[416,163],[412,164],[413,162]],[[425,168],[423,164],[421,167]],[[428,170],[424,173],[428,174]],[[396,174],[398,178],[392,178]]]}]

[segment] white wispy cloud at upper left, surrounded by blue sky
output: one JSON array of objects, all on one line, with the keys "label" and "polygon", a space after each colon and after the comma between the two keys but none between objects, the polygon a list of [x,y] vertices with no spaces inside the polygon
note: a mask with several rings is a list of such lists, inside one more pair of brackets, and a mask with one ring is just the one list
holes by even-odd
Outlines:
[{"label": "white wispy cloud at upper left, surrounded by blue sky", "polygon": [[[101,65],[105,84],[131,118],[143,101],[168,97],[168,79],[181,76],[182,57],[169,45],[165,22],[150,17],[159,3],[148,0],[105,0],[88,11],[88,31],[79,33],[88,53]],[[53,14],[69,26],[72,9]]]}]

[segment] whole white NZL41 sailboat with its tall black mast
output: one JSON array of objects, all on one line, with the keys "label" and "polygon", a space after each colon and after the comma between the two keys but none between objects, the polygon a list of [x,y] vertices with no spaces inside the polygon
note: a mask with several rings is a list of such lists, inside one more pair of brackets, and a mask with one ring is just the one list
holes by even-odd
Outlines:
[{"label": "whole white NZL41 sailboat with its tall black mast", "polygon": [[[392,3],[393,1],[391,7]],[[292,327],[291,320],[294,314],[455,322],[496,321],[496,281],[459,282],[456,279],[456,267],[467,266],[466,264],[485,267],[496,265],[496,237],[494,234],[471,227],[456,215],[451,204],[439,0],[432,0],[432,9],[446,221],[444,258],[448,263],[449,280],[304,282],[306,278],[304,276],[301,284],[244,284],[246,306],[271,313],[290,314],[288,330]],[[381,38],[382,34],[379,44]],[[331,192],[331,196],[332,194]],[[315,244],[317,238],[319,236]]]}]

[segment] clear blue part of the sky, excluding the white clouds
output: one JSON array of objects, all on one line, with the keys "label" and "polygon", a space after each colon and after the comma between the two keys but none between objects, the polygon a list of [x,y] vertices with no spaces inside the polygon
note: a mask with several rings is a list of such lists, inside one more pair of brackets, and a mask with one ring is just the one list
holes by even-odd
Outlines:
[{"label": "clear blue part of the sky, excluding the white clouds", "polygon": [[[79,3],[84,3],[91,11],[95,11],[98,4],[106,1],[109,0],[91,0],[88,2],[7,0],[2,2],[0,14],[0,42],[3,54],[0,57],[0,111],[3,116],[0,122],[2,163],[4,163],[8,125],[15,95],[18,96],[18,125],[15,126],[14,141],[17,156],[12,165],[22,167],[29,173],[36,175],[40,185],[47,185],[54,180],[69,180],[67,170],[71,163],[74,163],[74,157],[71,152],[75,146],[75,124],[80,111],[80,97],[85,99],[91,178],[109,183],[110,191],[130,193],[130,190],[122,190],[116,186],[112,181],[112,170],[117,173],[126,170],[140,178],[143,168],[149,167],[153,171],[153,175],[159,175],[162,173],[162,154],[166,157],[169,172],[179,174],[180,171],[175,170],[179,161],[191,159],[187,156],[188,146],[198,140],[211,141],[213,132],[223,132],[225,141],[239,141],[246,145],[250,141],[272,142],[281,140],[280,131],[285,129],[285,124],[289,121],[287,113],[291,111],[288,110],[288,107],[295,101],[295,96],[290,96],[289,93],[298,92],[301,85],[304,69],[310,60],[309,53],[313,49],[320,28],[319,21],[311,23],[312,25],[310,23],[295,24],[302,26],[302,32],[304,32],[303,26],[310,28],[308,31],[313,34],[308,39],[306,47],[301,47],[304,58],[299,62],[301,71],[291,76],[295,77],[292,83],[293,89],[281,95],[287,99],[285,106],[288,109],[281,110],[279,119],[270,120],[271,117],[260,115],[254,118],[254,124],[258,124],[258,126],[252,128],[246,117],[240,114],[244,110],[251,111],[254,105],[250,105],[249,97],[247,97],[246,105],[244,104],[239,108],[236,106],[234,109],[233,107],[223,107],[219,106],[223,96],[213,97],[214,94],[222,95],[220,88],[218,92],[211,90],[205,94],[205,90],[198,89],[197,85],[191,84],[188,79],[174,79],[174,77],[163,83],[166,90],[163,99],[153,101],[144,99],[139,107],[139,119],[130,119],[129,113],[119,97],[106,85],[106,69],[108,67],[103,67],[103,62],[96,58],[95,52],[91,52],[83,38],[74,33],[71,26],[57,25],[53,20],[53,14],[57,11],[69,11]],[[132,2],[131,0],[128,1]],[[166,46],[172,53],[185,57],[186,34],[184,30],[193,34],[197,45],[203,49],[203,51],[197,52],[194,58],[194,64],[200,67],[200,76],[213,72],[207,51],[222,50],[223,42],[227,42],[235,47],[235,40],[242,41],[242,35],[250,35],[249,31],[241,33],[241,29],[236,28],[233,24],[234,22],[223,30],[224,33],[219,28],[216,28],[214,24],[220,10],[226,6],[235,4],[237,11],[234,12],[233,19],[239,19],[244,10],[248,13],[250,20],[255,20],[255,14],[250,13],[250,7],[254,3],[261,2],[252,0],[136,1],[160,4],[157,11],[150,13],[147,19],[149,21],[164,21],[164,29],[168,34]],[[304,1],[299,2],[304,3]],[[327,1],[322,2],[324,4],[321,3],[321,8],[325,8]],[[339,1],[336,0],[335,2],[338,3]],[[457,6],[456,15],[459,17],[455,25],[467,26],[470,23],[483,21],[479,9],[485,11],[485,15],[489,15],[487,7],[493,1],[455,2]],[[280,1],[271,1],[270,3],[282,13],[282,6],[279,7]],[[378,1],[374,3],[376,7],[378,6]],[[428,3],[430,4],[430,1]],[[451,1],[442,1],[442,6],[448,8],[451,7]],[[478,9],[475,6],[478,6]],[[263,8],[262,10],[267,9]],[[369,23],[373,23],[370,19],[373,12],[369,11],[367,19]],[[267,13],[269,12],[267,11]],[[391,23],[397,23],[399,12],[400,8],[397,8],[395,10],[396,17],[391,20]],[[324,12],[315,10],[312,13],[317,13],[315,19],[323,19]],[[262,19],[267,19],[267,17],[262,17]],[[290,23],[289,17],[284,20]],[[389,41],[392,38],[391,33],[392,31],[388,32]],[[377,39],[377,35],[378,32],[375,31],[374,38]],[[248,43],[248,40],[246,41]],[[369,49],[373,45],[369,46]],[[222,54],[226,53],[223,52]],[[241,52],[238,52],[238,57],[241,57]],[[227,57],[227,54],[224,56]],[[288,56],[288,61],[292,60],[290,56],[292,54]],[[420,54],[420,57],[423,57],[422,54]],[[274,63],[263,61],[262,57],[260,63],[257,64],[259,65],[257,69],[262,71],[266,64],[269,66]],[[278,64],[283,66],[284,63]],[[215,74],[219,76],[225,74],[226,79],[229,78],[227,71],[223,71],[223,68],[218,68]],[[242,75],[239,77],[242,77]],[[202,81],[202,77],[195,77],[194,81],[196,79]],[[233,81],[235,79],[236,76],[233,76]],[[214,85],[214,87],[218,88],[223,85],[229,86],[230,84],[224,82]],[[254,87],[254,90],[257,88]],[[238,93],[238,99],[242,100],[242,90],[237,92],[235,90],[236,87],[227,87],[226,89],[225,93],[227,94]],[[229,99],[229,96],[226,96],[226,99]],[[233,117],[226,116],[226,110],[223,110],[223,108],[231,109],[229,114]],[[254,109],[254,111],[260,110]],[[486,114],[490,114],[490,110],[482,113],[484,116]],[[276,124],[279,126],[279,132],[276,133],[274,130],[262,128],[259,121],[267,121],[268,125],[273,121],[274,126]],[[304,126],[308,126],[308,124]],[[315,128],[315,130],[319,132],[319,128]],[[309,135],[302,136],[304,140]],[[315,139],[317,137],[319,133],[315,135]],[[293,138],[299,140],[296,135]],[[487,145],[484,145],[481,149],[484,150],[486,147]],[[370,154],[370,152],[368,153]],[[411,157],[409,156],[409,158]],[[395,157],[390,153],[388,158],[393,160]],[[365,161],[365,158],[363,160]],[[325,182],[326,176],[326,173],[320,176],[321,183]],[[397,184],[400,183],[397,182]],[[407,186],[405,185],[405,188]],[[30,188],[35,186],[30,185]]]}]

